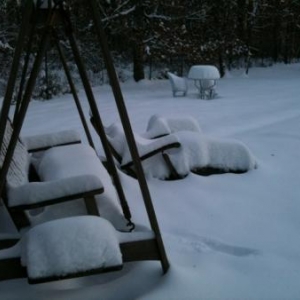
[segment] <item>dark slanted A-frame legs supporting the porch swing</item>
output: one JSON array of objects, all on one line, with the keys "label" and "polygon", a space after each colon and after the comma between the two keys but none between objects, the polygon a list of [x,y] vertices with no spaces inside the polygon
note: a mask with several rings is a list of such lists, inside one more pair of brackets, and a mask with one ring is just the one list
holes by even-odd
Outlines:
[{"label": "dark slanted A-frame legs supporting the porch swing", "polygon": [[[7,91],[6,91],[4,100],[3,100],[2,110],[0,112],[0,146],[2,146],[3,136],[4,136],[4,132],[5,132],[5,126],[6,126],[6,120],[9,115],[9,107],[12,102],[13,92],[14,92],[15,85],[16,85],[16,78],[17,78],[19,62],[21,59],[21,54],[22,54],[22,51],[23,51],[23,48],[24,48],[24,45],[26,42],[26,37],[28,37],[28,35],[30,34],[30,30],[28,30],[28,24],[29,24],[30,18],[32,17],[32,15],[34,13],[36,13],[36,14],[39,13],[38,10],[41,10],[44,12],[47,11],[47,14],[46,14],[47,20],[44,25],[44,30],[43,30],[43,34],[41,37],[40,46],[39,46],[38,52],[36,54],[33,66],[30,70],[30,76],[27,81],[26,87],[24,88],[24,92],[19,91],[19,95],[22,95],[22,96],[19,97],[20,99],[19,99],[19,103],[17,106],[18,109],[17,109],[17,111],[15,111],[15,117],[14,117],[14,124],[13,124],[14,131],[11,136],[10,144],[7,149],[7,153],[6,153],[6,156],[5,156],[2,168],[1,168],[1,172],[0,172],[0,193],[2,192],[2,190],[4,188],[5,178],[6,178],[8,169],[9,169],[10,161],[13,156],[13,152],[14,152],[14,149],[15,149],[22,125],[23,125],[23,121],[25,119],[25,115],[26,115],[26,112],[27,112],[27,109],[29,106],[29,102],[31,100],[31,96],[32,96],[32,92],[33,92],[33,89],[35,86],[36,78],[38,76],[40,66],[42,64],[43,57],[46,53],[50,38],[54,37],[54,40],[58,47],[60,58],[62,60],[63,67],[65,70],[68,82],[70,84],[71,92],[74,96],[75,103],[76,103],[77,109],[79,111],[80,119],[83,123],[85,132],[87,134],[88,141],[93,146],[93,142],[91,140],[91,136],[89,134],[87,124],[84,119],[84,115],[83,115],[83,112],[82,112],[82,109],[80,106],[80,102],[78,101],[78,98],[76,95],[76,90],[72,83],[70,73],[68,72],[67,64],[64,61],[63,53],[59,47],[59,41],[55,34],[55,25],[58,21],[60,21],[60,22],[62,22],[62,24],[65,28],[65,31],[66,31],[66,35],[69,39],[69,43],[70,43],[70,46],[71,46],[71,49],[73,52],[74,60],[78,67],[79,74],[80,74],[80,77],[81,77],[81,80],[83,83],[83,87],[84,87],[84,90],[85,90],[85,93],[86,93],[86,96],[88,99],[90,110],[94,116],[95,125],[99,129],[101,143],[103,145],[103,149],[104,149],[107,161],[108,161],[108,165],[109,165],[114,183],[116,185],[116,189],[117,189],[120,201],[121,201],[124,215],[125,215],[125,217],[127,217],[127,219],[129,219],[129,222],[130,222],[130,218],[131,218],[130,210],[127,205],[127,201],[125,199],[123,188],[122,188],[119,176],[118,176],[116,166],[114,164],[112,154],[110,152],[110,148],[108,145],[108,141],[106,139],[104,126],[102,124],[102,120],[101,120],[100,113],[99,113],[99,110],[98,110],[98,107],[97,107],[97,104],[95,101],[95,97],[93,95],[93,91],[90,86],[88,76],[87,76],[84,64],[82,62],[82,59],[81,59],[79,49],[77,47],[75,37],[73,35],[72,25],[71,25],[71,21],[70,21],[70,17],[69,17],[69,11],[66,8],[66,3],[65,3],[65,1],[62,1],[62,0],[53,0],[53,1],[46,0],[45,2],[48,3],[48,6],[46,9],[42,9],[40,7],[37,7],[38,5],[35,5],[33,3],[34,2],[33,0],[26,0],[24,2],[25,2],[25,5],[23,8],[24,12],[23,12],[23,20],[22,20],[22,24],[21,24],[21,30],[19,33],[19,37],[18,37],[18,41],[17,41],[15,53],[14,53],[14,58],[13,58],[12,67],[11,67],[11,73],[10,73],[10,77],[8,80]],[[41,3],[43,1],[41,1],[41,2],[35,1],[35,2]],[[54,2],[54,3],[52,3],[52,2]],[[131,153],[131,156],[132,156],[132,159],[134,162],[134,167],[136,169],[136,174],[137,174],[137,180],[139,182],[139,186],[140,186],[141,193],[143,196],[144,205],[145,205],[145,208],[146,208],[146,211],[148,214],[150,226],[155,235],[155,245],[154,246],[152,246],[150,244],[145,244],[142,242],[141,247],[150,246],[151,249],[148,249],[148,252],[149,251],[157,252],[157,253],[151,253],[149,255],[149,257],[153,257],[154,259],[159,259],[161,261],[163,272],[166,273],[169,268],[169,261],[168,261],[168,258],[167,258],[166,252],[165,252],[165,248],[164,248],[163,240],[161,237],[158,221],[156,218],[154,206],[152,203],[150,191],[149,191],[149,188],[148,188],[148,185],[147,185],[147,182],[145,179],[145,175],[143,172],[142,164],[141,164],[141,161],[140,161],[140,158],[138,155],[137,146],[136,146],[136,143],[134,140],[134,135],[132,132],[129,116],[128,116],[125,102],[124,102],[122,92],[120,89],[119,81],[118,81],[118,78],[117,78],[117,75],[115,72],[112,58],[110,56],[107,39],[106,39],[104,30],[103,30],[103,27],[101,24],[101,16],[98,11],[95,0],[87,0],[86,2],[90,8],[90,12],[91,12],[92,19],[94,22],[94,27],[95,27],[98,41],[99,41],[99,44],[101,47],[102,55],[103,55],[103,58],[105,61],[106,69],[107,69],[108,76],[110,79],[110,83],[111,83],[112,91],[114,94],[118,113],[120,116],[120,120],[123,125],[126,140],[129,145],[130,153]],[[34,27],[32,27],[32,28],[34,28]],[[128,245],[128,246],[129,246],[129,248],[131,247],[130,245]],[[126,245],[125,245],[125,247],[126,247]],[[142,254],[142,252],[145,249],[137,249],[137,247],[138,247],[138,245],[134,246],[133,249],[129,249],[129,250],[132,250],[133,253],[136,253],[137,260],[143,259],[144,255]],[[146,251],[147,251],[147,249],[146,249]],[[145,257],[147,257],[147,256],[145,256]],[[134,260],[134,257],[130,257],[129,260]]]}]

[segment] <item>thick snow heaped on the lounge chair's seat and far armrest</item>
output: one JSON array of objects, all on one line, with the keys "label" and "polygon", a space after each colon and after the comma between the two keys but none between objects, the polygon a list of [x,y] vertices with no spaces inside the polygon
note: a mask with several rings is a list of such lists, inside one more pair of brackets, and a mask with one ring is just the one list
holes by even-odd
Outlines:
[{"label": "thick snow heaped on the lounge chair's seat and far armrest", "polygon": [[257,167],[255,157],[245,144],[206,136],[190,116],[153,115],[146,134],[149,137],[169,134],[177,138],[181,147],[167,150],[164,158],[179,178],[190,171],[200,175],[244,173]]}]

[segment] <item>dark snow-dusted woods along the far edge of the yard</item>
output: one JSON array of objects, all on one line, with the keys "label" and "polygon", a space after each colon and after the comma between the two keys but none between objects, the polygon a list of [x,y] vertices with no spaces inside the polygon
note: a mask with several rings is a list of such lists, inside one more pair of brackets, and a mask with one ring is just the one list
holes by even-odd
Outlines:
[{"label": "dark snow-dusted woods along the far edge of the yard", "polygon": [[[66,2],[90,76],[103,79],[86,2]],[[9,72],[21,6],[16,0],[0,3],[0,84]],[[214,64],[224,74],[226,68],[300,57],[300,0],[98,0],[98,8],[121,80],[128,67],[139,81],[163,76],[166,68],[185,75],[193,64]],[[55,69],[52,52],[48,61]]]}]

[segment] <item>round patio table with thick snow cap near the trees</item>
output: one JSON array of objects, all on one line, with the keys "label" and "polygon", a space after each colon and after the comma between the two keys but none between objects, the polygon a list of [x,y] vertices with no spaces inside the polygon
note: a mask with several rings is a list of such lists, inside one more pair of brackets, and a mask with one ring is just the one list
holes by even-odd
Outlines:
[{"label": "round patio table with thick snow cap near the trees", "polygon": [[189,79],[193,79],[201,99],[212,99],[220,72],[215,66],[195,65],[190,68]]}]

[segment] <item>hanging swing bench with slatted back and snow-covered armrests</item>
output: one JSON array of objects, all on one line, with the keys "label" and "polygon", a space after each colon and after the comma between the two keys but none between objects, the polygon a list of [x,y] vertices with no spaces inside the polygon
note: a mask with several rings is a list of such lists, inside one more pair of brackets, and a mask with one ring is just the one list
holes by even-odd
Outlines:
[{"label": "hanging swing bench with slatted back and snow-covered armrests", "polygon": [[[12,127],[8,122],[2,145],[1,163],[4,161],[11,134]],[[89,213],[98,214],[94,197],[103,193],[104,187],[100,177],[90,174],[89,169],[91,165],[101,165],[101,162],[95,152],[94,154],[90,153],[90,157],[87,157],[86,153],[81,151],[76,157],[78,161],[70,159],[71,156],[74,158],[76,149],[84,147],[82,144],[78,144],[80,142],[78,134],[74,131],[64,131],[61,134],[48,135],[47,139],[45,136],[36,136],[35,139],[25,140],[31,151],[33,151],[33,146],[37,146],[38,158],[34,159],[35,155],[29,154],[25,143],[22,143],[21,140],[17,141],[6,176],[5,193],[2,195],[17,228],[30,225],[27,210],[80,198],[85,199]],[[64,146],[53,147],[57,143]],[[41,154],[40,150],[49,147],[50,149]],[[69,149],[69,153],[64,153],[64,158],[58,154],[56,158],[48,158],[48,161],[51,161],[46,164],[45,159],[51,154],[53,156],[54,152],[61,152],[59,149],[65,149],[65,151]],[[91,162],[91,160],[93,161]],[[35,162],[35,168],[32,162]],[[79,164],[81,164],[81,173],[78,172],[78,168],[77,171],[75,170],[75,166],[78,167]]]}]

